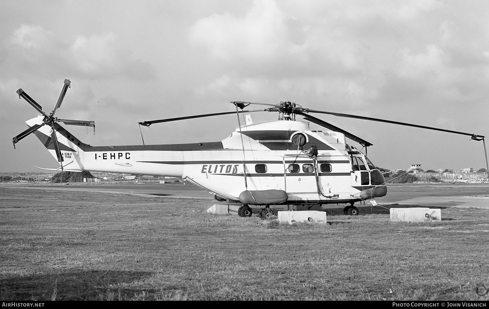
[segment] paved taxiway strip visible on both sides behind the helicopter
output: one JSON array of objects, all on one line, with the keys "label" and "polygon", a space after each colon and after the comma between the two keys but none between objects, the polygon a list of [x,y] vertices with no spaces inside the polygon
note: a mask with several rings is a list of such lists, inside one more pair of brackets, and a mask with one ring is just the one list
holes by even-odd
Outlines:
[{"label": "paved taxiway strip visible on both sides behind the helicopter", "polygon": [[[4,185],[40,190],[67,190],[121,193],[138,196],[194,198],[213,200],[208,192],[191,184],[90,184],[90,185]],[[402,184],[388,185],[387,196],[377,198],[382,204],[422,206],[458,206],[489,208],[489,184]]]}]

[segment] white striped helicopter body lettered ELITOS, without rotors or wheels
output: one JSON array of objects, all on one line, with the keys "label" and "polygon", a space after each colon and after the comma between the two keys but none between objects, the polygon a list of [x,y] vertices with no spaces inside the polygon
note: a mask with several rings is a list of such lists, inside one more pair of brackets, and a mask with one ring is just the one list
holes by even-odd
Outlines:
[{"label": "white striped helicopter body lettered ELITOS, without rotors or wheels", "polygon": [[[29,127],[42,123],[43,116],[26,121]],[[68,171],[181,177],[232,201],[246,190],[285,191],[286,204],[348,203],[386,194],[378,168],[346,144],[344,134],[311,131],[308,122],[250,124],[221,142],[133,146],[90,146],[60,125],[54,128]],[[57,158],[52,130],[44,125],[35,134]],[[304,152],[312,146],[317,157]]]}]

